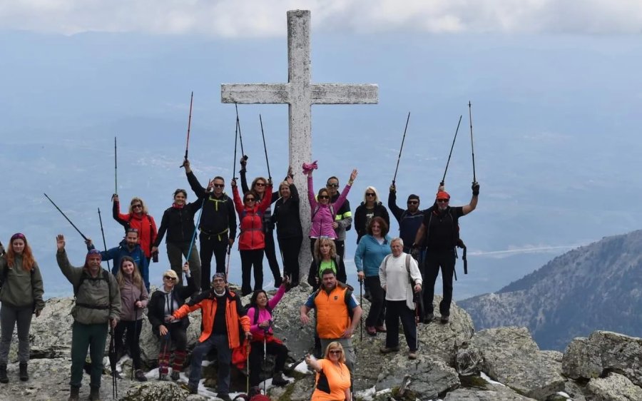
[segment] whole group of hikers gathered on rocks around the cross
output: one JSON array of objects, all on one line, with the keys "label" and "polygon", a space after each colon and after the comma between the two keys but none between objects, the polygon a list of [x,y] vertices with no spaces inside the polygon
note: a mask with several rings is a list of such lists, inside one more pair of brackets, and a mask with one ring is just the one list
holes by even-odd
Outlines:
[{"label": "whole group of hikers gathered on rocks around the cross", "polygon": [[[264,177],[255,178],[248,186],[247,158],[242,158],[242,193],[233,178],[230,197],[225,193],[222,177],[216,176],[203,187],[187,158],[183,166],[196,200],[188,202],[187,191],[177,189],[158,228],[141,198],[132,198],[128,213],[121,213],[120,200],[114,195],[113,218],[125,228],[125,238],[116,248],[99,251],[91,238],[86,238],[86,259],[82,266],[74,267],[65,251],[65,238],[63,235],[56,238],[56,260],[73,285],[76,300],[71,310],[69,400],[79,399],[88,352],[89,399],[100,399],[102,359],[111,330],[116,355],[121,357],[127,352],[133,360],[136,380],[148,380],[139,347],[145,311],[153,334],[160,340],[160,380],[180,379],[188,351],[188,315],[200,309],[201,335],[192,351],[187,380],[190,392],[198,392],[201,363],[212,349],[218,355],[217,392],[222,400],[230,400],[233,364],[248,365],[251,392],[260,391],[265,352],[275,355],[272,385],[286,385],[288,351],[274,335],[272,313],[287,290],[300,284],[302,218],[310,219],[306,235],[313,253],[307,275],[312,293],[300,308],[304,325],[310,323],[310,310],[315,310],[315,346],[312,355],[305,358],[317,372],[312,400],[352,400],[355,352],[350,339],[362,318],[360,300],[347,285],[344,262],[346,231],[352,226],[357,232],[357,280],[371,303],[365,331],[372,336],[385,333],[380,352],[399,351],[400,320],[408,346],[407,357],[417,358],[417,323],[430,323],[435,318],[434,285],[440,270],[444,296],[439,303],[439,320],[449,322],[457,246],[463,245],[458,220],[477,207],[479,183],[472,184],[472,198],[463,206],[449,205],[450,196],[442,183],[434,203],[424,210],[420,208],[419,196],[414,194],[408,196],[406,208],[399,207],[394,183],[389,187],[388,208],[377,189],[367,186],[353,219],[347,196],[357,170],[350,173],[341,191],[339,178],[331,176],[315,192],[312,173],[317,163],[305,163],[302,168],[307,175],[311,213],[301,216],[300,195],[291,168],[285,179],[277,183],[277,191],[272,192],[272,180]],[[390,214],[399,223],[399,236],[394,238],[389,235]],[[199,247],[195,244],[197,232]],[[150,296],[149,266],[152,260],[158,260],[163,238],[170,269],[163,272],[163,284]],[[241,260],[240,293],[230,290],[227,281],[229,253],[236,241]],[[0,254],[0,382],[9,382],[7,362],[16,325],[19,378],[26,381],[29,325],[32,315],[38,317],[45,306],[43,280],[25,235],[13,235],[6,252],[0,245]],[[272,298],[263,289],[264,256],[277,288]],[[113,260],[111,272],[101,268],[105,260]],[[249,305],[243,305],[241,297],[250,294]]]}]

